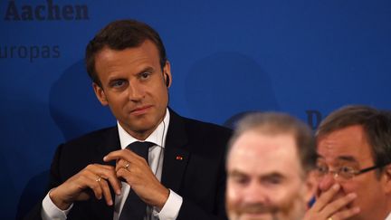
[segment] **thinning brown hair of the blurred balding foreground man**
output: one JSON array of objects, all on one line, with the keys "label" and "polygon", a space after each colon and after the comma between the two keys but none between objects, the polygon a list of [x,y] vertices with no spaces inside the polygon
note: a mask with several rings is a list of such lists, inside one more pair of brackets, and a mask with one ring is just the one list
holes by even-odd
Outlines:
[{"label": "thinning brown hair of the blurred balding foreground man", "polygon": [[228,142],[228,154],[234,142],[249,130],[260,131],[262,134],[292,134],[295,142],[300,165],[308,174],[316,164],[315,140],[311,129],[304,122],[285,113],[253,112],[238,121],[234,135]]}]

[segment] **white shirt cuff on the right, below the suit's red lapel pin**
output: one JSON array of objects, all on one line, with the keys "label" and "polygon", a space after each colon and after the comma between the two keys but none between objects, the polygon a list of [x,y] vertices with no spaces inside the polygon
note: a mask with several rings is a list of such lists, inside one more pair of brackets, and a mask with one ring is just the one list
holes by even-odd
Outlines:
[{"label": "white shirt cuff on the right, below the suit's red lapel pin", "polygon": [[182,206],[182,196],[177,195],[174,191],[169,189],[169,195],[166,204],[160,210],[154,207],[153,214],[159,219],[175,220],[179,214],[179,209]]}]

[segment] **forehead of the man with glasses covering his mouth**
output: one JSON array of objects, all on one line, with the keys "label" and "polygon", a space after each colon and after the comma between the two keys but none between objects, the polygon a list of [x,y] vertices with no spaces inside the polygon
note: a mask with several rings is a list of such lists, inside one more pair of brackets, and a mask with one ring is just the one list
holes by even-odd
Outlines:
[{"label": "forehead of the man with glasses covering his mouth", "polygon": [[345,158],[358,163],[373,160],[367,136],[360,125],[335,130],[320,137],[318,154],[330,163],[346,160]]}]

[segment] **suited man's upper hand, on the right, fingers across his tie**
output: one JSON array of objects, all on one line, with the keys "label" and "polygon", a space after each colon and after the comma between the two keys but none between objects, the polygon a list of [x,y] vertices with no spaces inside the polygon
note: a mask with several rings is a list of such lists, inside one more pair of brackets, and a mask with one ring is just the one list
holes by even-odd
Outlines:
[{"label": "suited man's upper hand, on the right, fingers across his tie", "polygon": [[129,149],[110,152],[103,158],[106,162],[114,159],[117,160],[117,177],[125,179],[141,200],[159,209],[166,204],[169,190],[157,180],[144,158]]}]

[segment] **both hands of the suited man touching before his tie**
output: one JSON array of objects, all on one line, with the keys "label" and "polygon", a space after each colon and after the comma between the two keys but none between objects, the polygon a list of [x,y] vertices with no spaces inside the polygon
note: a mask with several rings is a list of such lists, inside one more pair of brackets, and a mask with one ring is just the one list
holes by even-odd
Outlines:
[{"label": "both hands of the suited man touching before his tie", "polygon": [[109,185],[115,194],[120,195],[121,180],[126,181],[131,190],[149,206],[161,209],[165,205],[169,190],[157,180],[144,158],[129,149],[120,149],[110,152],[103,158],[105,162],[112,160],[116,160],[116,167],[91,164],[59,187],[53,188],[49,196],[54,205],[66,210],[75,201],[90,199],[92,191],[93,196],[97,199],[103,196],[107,205],[112,206]]}]

